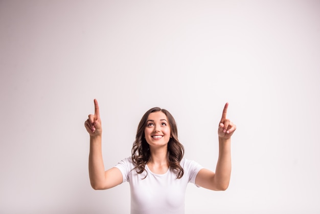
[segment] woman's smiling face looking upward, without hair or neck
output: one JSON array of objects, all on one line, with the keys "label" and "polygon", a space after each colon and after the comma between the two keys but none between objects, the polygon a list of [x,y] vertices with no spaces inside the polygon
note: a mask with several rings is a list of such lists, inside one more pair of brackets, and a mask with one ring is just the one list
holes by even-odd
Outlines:
[{"label": "woman's smiling face looking upward, without hair or neck", "polygon": [[171,129],[167,116],[159,111],[150,113],[145,127],[145,137],[150,147],[167,146]]}]

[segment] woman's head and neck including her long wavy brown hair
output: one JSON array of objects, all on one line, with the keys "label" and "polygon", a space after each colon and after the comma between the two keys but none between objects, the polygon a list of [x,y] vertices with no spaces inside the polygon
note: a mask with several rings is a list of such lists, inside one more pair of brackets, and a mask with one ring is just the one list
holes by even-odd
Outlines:
[{"label": "woman's head and neck including her long wavy brown hair", "polygon": [[[157,154],[154,154],[155,152]],[[173,116],[167,110],[158,107],[147,111],[138,125],[132,147],[132,161],[138,169],[137,172],[140,174],[146,171],[146,164],[161,172],[170,166],[177,170],[177,178],[181,178],[184,170],[180,161],[184,152],[184,146],[178,140]],[[154,158],[163,162],[155,163]]]}]

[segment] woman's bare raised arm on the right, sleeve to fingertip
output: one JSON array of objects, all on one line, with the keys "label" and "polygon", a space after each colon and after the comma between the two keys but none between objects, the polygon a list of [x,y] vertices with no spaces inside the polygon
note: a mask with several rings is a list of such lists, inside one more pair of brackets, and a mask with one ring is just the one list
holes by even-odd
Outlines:
[{"label": "woman's bare raised arm on the right, sleeve to fingertip", "polygon": [[225,103],[222,117],[219,122],[219,157],[216,172],[201,169],[196,177],[196,184],[207,189],[227,189],[231,177],[231,136],[236,130],[236,125],[226,119],[228,103]]}]

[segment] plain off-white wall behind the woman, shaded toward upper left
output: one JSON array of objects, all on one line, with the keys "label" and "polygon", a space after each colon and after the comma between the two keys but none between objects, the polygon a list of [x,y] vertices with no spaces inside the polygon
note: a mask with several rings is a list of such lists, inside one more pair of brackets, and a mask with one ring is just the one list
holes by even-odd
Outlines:
[{"label": "plain off-white wall behind the woman, shaded toward upper left", "polygon": [[318,1],[0,1],[0,212],[129,213],[90,187],[97,98],[105,167],[153,106],[214,170],[223,105],[237,124],[226,191],[190,184],[186,213],[319,213]]}]

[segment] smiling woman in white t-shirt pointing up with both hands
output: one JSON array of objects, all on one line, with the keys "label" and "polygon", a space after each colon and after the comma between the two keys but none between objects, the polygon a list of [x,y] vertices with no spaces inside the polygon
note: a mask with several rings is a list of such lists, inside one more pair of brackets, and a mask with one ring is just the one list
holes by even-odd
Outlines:
[{"label": "smiling woman in white t-shirt pointing up with both hands", "polygon": [[218,126],[219,158],[216,171],[183,158],[172,115],[152,108],[142,117],[131,158],[123,159],[105,171],[101,151],[102,126],[98,101],[95,114],[85,127],[90,135],[89,177],[94,189],[108,189],[125,181],[130,183],[131,213],[184,213],[188,183],[212,190],[225,190],[231,176],[231,136],[236,125],[226,119],[225,104]]}]

